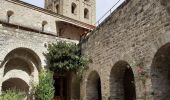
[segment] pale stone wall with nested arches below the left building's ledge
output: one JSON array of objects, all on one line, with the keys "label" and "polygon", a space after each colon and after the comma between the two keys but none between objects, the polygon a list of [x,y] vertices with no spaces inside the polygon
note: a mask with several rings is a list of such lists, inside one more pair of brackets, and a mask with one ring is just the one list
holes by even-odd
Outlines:
[{"label": "pale stone wall with nested arches below the left building's ledge", "polygon": [[[10,82],[15,78],[22,79],[28,86],[31,86],[30,80],[38,82],[40,69],[46,67],[43,53],[47,52],[49,43],[56,41],[77,43],[77,41],[10,25],[12,24],[0,24],[0,93],[2,83],[8,82],[8,80]],[[10,84],[7,83],[7,86]],[[29,87],[30,89],[31,87]]]}]

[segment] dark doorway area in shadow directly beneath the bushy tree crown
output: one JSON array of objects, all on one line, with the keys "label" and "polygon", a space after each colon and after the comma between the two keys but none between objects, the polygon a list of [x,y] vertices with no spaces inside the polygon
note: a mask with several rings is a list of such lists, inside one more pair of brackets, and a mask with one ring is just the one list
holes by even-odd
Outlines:
[{"label": "dark doorway area in shadow directly beneath the bushy tree crown", "polygon": [[80,100],[80,78],[74,72],[54,73],[55,100]]}]

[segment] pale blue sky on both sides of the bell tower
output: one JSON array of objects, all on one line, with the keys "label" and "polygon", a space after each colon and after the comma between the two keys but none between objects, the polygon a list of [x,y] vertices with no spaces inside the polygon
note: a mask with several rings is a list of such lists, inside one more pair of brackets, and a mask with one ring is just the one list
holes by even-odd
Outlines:
[{"label": "pale blue sky on both sides of the bell tower", "polygon": [[[22,1],[25,1],[27,3],[30,3],[30,4],[39,6],[39,7],[44,7],[44,0],[22,0]],[[96,0],[96,20],[99,20],[118,1],[119,0]],[[118,5],[121,4],[123,1],[124,0],[120,0]]]}]

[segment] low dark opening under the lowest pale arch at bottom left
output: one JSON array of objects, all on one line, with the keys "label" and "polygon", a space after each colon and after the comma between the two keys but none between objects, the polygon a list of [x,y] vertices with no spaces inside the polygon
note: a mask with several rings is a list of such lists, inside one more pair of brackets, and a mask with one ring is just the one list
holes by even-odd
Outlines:
[{"label": "low dark opening under the lowest pale arch at bottom left", "polygon": [[2,83],[2,91],[6,90],[17,90],[21,92],[28,93],[28,84],[19,78],[11,78]]}]

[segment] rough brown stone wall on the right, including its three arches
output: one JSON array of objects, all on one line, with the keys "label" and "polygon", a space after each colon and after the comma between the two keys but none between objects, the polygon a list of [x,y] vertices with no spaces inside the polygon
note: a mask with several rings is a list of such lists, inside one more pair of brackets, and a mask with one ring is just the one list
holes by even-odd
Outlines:
[{"label": "rough brown stone wall on the right, including its three arches", "polygon": [[83,99],[102,94],[103,100],[170,100],[169,5],[126,0],[81,42],[93,60],[82,82]]}]

